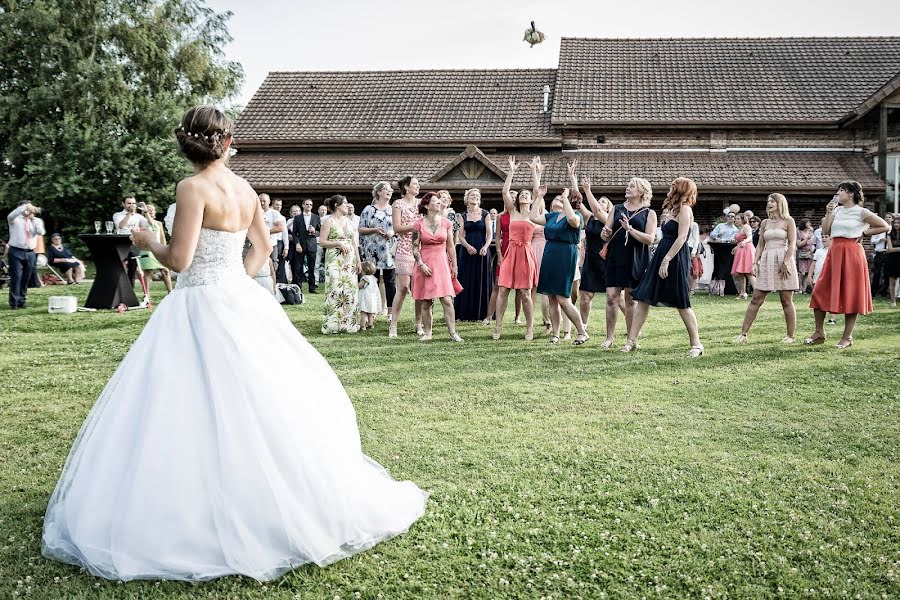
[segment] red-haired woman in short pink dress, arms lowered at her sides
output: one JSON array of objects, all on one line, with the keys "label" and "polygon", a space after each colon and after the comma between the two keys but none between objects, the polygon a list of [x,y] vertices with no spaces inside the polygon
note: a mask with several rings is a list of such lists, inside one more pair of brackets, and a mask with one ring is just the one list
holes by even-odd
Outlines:
[{"label": "red-haired woman in short pink dress, arms lowered at her sides", "polygon": [[[412,275],[412,294],[416,299],[416,314],[423,317],[425,332],[423,342],[431,340],[431,305],[435,299],[444,307],[444,320],[450,340],[461,342],[456,333],[456,315],[453,312],[453,277],[456,277],[456,247],[453,242],[453,223],[441,215],[443,201],[434,192],[428,192],[419,200],[419,214],[423,218],[413,223],[412,256],[415,269]],[[452,275],[451,275],[452,273]]]}]

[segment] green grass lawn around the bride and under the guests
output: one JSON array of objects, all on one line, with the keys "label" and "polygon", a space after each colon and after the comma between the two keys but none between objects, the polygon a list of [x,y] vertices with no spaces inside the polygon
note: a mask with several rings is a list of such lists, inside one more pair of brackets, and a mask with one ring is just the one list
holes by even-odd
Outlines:
[{"label": "green grass lawn around the bride and under the guests", "polygon": [[[775,297],[733,346],[746,304],[698,297],[706,355],[690,361],[674,310],[653,310],[625,355],[598,348],[602,310],[580,348],[510,322],[499,342],[463,324],[462,345],[441,322],[425,345],[408,317],[399,340],[384,321],[324,337],[322,296],[307,296],[290,318],[347,387],[365,451],[431,492],[427,513],[325,569],[190,585],[108,582],[40,554],[69,446],[148,318],[48,315],[65,292],[12,312],[3,290],[0,598],[900,596],[900,310],[884,301],[839,352],[780,344]],[[291,393],[291,365],[271,364]]]}]

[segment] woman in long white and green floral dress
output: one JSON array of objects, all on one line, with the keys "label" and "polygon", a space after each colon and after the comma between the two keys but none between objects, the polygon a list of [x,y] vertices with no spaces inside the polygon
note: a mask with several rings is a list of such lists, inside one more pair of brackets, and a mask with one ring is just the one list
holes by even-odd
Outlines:
[{"label": "woman in long white and green floral dress", "polygon": [[347,218],[350,205],[340,194],[326,202],[331,218],[322,223],[319,245],[325,248],[325,318],[322,333],[355,333],[359,330],[356,305],[362,268],[359,239]]}]

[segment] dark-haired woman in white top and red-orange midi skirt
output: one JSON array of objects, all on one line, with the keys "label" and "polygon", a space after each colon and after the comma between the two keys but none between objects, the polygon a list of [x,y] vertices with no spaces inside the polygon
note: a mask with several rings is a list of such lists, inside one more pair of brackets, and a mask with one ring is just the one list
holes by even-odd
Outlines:
[{"label": "dark-haired woman in white top and red-orange midi skirt", "polygon": [[886,232],[888,224],[863,208],[864,200],[862,186],[845,181],[828,203],[822,235],[831,236],[831,248],[809,302],[815,311],[816,330],[806,339],[808,346],[825,343],[825,314],[832,313],[844,315],[844,335],[836,347],[849,348],[856,317],[872,312],[869,268],[859,240]]}]

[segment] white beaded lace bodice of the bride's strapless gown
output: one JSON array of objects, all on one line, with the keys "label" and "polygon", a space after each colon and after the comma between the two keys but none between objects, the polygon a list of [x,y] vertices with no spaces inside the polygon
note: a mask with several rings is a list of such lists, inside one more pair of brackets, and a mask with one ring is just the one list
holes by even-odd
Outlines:
[{"label": "white beaded lace bodice of the bride's strapless gown", "polygon": [[243,258],[246,239],[246,229],[219,231],[201,228],[194,260],[187,270],[178,275],[176,287],[215,285],[236,277],[247,277]]}]

